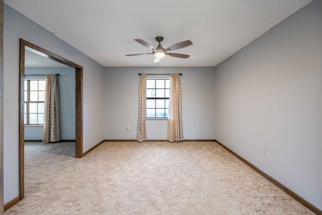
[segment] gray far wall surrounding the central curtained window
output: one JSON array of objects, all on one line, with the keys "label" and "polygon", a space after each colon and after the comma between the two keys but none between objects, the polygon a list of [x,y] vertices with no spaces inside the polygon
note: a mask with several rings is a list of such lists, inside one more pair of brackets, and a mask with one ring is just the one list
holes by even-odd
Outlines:
[{"label": "gray far wall surrounding the central curtained window", "polygon": [[[214,139],[213,69],[213,67],[106,67],[105,139],[136,139],[140,80],[138,73],[182,73],[185,139]],[[161,77],[148,76],[148,78]],[[129,131],[126,130],[127,126],[130,127]],[[146,132],[148,139],[166,139],[167,120],[147,120]]]}]

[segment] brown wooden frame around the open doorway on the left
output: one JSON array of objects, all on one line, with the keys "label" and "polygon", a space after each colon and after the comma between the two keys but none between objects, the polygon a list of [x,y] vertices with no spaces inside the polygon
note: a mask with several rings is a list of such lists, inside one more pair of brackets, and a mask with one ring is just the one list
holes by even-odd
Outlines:
[{"label": "brown wooden frame around the open doorway on the left", "polygon": [[24,125],[24,81],[25,46],[33,48],[44,57],[75,68],[75,158],[83,157],[83,66],[77,65],[35,44],[20,39],[20,81],[19,81],[19,185],[20,200],[25,197],[25,125]]}]

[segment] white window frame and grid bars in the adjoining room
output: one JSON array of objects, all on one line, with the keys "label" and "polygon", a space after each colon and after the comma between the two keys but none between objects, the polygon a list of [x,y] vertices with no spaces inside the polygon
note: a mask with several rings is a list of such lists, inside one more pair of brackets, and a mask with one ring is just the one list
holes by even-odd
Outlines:
[{"label": "white window frame and grid bars in the adjoining room", "polygon": [[[27,85],[25,88],[24,88],[24,92],[27,91],[25,98],[24,98],[24,105],[25,105],[25,111],[24,111],[24,115],[26,114],[26,123],[25,123],[25,118],[24,118],[24,125],[25,126],[43,126],[44,123],[38,123],[38,114],[44,114],[45,113],[39,113],[38,112],[38,103],[43,103],[44,106],[45,106],[45,101],[39,101],[39,92],[45,92],[45,90],[39,90],[39,81],[46,81],[45,78],[37,78],[37,79],[25,79],[24,80],[24,85]],[[30,81],[37,81],[38,82],[38,85],[37,85],[37,90],[30,90]],[[27,90],[25,90],[27,88]],[[37,92],[38,94],[38,99],[37,101],[30,101],[30,93],[31,92]],[[31,113],[31,114],[37,114],[37,123],[32,123],[30,124],[30,107],[29,107],[29,104],[31,103],[35,103],[37,104],[37,112],[36,113]]]}]

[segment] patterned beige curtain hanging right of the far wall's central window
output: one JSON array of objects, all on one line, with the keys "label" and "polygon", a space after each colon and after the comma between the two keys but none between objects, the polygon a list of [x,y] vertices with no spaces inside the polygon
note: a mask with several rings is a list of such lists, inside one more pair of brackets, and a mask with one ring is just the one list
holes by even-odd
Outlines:
[{"label": "patterned beige curtain hanging right of the far wall's central window", "polygon": [[180,142],[184,140],[182,124],[181,84],[179,74],[170,75],[169,117],[167,140]]}]

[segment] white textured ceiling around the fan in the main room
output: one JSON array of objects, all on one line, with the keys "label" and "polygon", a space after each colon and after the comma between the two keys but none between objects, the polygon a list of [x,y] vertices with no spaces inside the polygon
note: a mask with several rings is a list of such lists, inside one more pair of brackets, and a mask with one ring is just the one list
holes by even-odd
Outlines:
[{"label": "white textured ceiling around the fan in the main room", "polygon": [[[312,0],[5,0],[16,11],[103,66],[214,66],[248,45]],[[134,39],[176,50],[153,63]],[[49,50],[50,51],[50,50]]]}]

